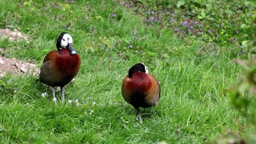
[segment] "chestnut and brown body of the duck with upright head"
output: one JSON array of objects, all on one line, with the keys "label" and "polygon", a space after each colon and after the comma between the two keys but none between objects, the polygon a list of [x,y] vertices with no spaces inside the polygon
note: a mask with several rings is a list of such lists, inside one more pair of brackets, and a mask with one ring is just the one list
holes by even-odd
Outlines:
[{"label": "chestnut and brown body of the duck with upright head", "polygon": [[78,73],[81,59],[71,55],[66,48],[49,52],[40,69],[40,81],[49,86],[67,85]]}]

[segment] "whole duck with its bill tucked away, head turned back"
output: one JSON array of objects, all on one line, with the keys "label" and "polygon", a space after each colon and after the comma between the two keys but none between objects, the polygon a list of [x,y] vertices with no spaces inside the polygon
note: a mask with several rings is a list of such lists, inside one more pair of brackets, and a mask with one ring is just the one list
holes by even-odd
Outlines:
[{"label": "whole duck with its bill tucked away, head turned back", "polygon": [[124,100],[137,110],[141,123],[139,107],[156,106],[161,93],[160,84],[153,75],[149,74],[148,68],[141,63],[129,69],[128,75],[123,80],[121,91]]}]

